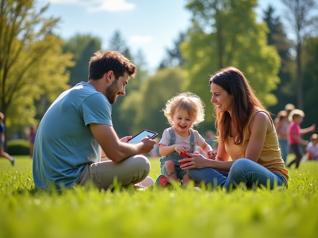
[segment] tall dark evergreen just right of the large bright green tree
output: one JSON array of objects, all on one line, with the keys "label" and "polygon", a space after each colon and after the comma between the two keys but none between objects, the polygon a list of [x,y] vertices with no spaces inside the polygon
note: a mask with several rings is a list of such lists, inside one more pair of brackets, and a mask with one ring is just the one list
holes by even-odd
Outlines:
[{"label": "tall dark evergreen just right of the large bright green tree", "polygon": [[292,47],[292,44],[289,40],[287,40],[280,17],[274,17],[274,12],[275,9],[272,6],[268,6],[268,9],[264,11],[265,16],[263,19],[269,29],[269,32],[267,32],[268,44],[275,46],[281,59],[281,68],[278,73],[278,76],[280,77],[280,84],[276,90],[272,91],[272,93],[277,97],[278,103],[267,108],[277,115],[280,110],[284,109],[287,103],[296,104],[296,92],[290,72],[293,62],[289,49]]}]

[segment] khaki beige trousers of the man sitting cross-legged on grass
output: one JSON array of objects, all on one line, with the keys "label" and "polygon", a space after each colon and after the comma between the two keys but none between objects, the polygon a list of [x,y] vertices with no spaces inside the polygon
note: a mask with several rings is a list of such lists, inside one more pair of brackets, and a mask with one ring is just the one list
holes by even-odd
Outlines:
[{"label": "khaki beige trousers of the man sitting cross-legged on grass", "polygon": [[77,184],[92,181],[98,188],[107,190],[117,177],[121,186],[136,184],[144,180],[150,172],[150,162],[143,155],[134,155],[121,162],[111,160],[87,163]]}]

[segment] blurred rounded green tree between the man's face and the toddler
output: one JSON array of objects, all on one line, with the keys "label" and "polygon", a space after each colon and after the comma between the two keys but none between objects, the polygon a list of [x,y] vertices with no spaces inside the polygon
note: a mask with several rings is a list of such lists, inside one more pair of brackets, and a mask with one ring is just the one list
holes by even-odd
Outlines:
[{"label": "blurred rounded green tree between the man's face and the toddler", "polygon": [[168,128],[167,118],[160,110],[168,99],[183,91],[184,76],[179,67],[159,69],[143,83],[140,90],[125,96],[121,104],[121,119],[132,128],[132,135],[143,129],[153,130],[161,137]]}]

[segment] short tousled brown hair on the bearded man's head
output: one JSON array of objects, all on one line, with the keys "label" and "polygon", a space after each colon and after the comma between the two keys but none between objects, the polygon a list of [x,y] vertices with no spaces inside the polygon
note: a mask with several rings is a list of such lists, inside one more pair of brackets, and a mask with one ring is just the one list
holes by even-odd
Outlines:
[{"label": "short tousled brown hair on the bearded man's head", "polygon": [[91,57],[88,66],[88,80],[101,79],[104,74],[112,70],[115,78],[118,80],[127,72],[129,77],[136,76],[136,66],[121,52],[116,50],[98,50]]}]

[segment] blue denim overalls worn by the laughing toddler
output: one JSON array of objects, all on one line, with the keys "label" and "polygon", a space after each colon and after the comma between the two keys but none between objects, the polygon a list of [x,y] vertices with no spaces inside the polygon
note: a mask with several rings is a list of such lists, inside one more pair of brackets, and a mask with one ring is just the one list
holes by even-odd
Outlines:
[{"label": "blue denim overalls worn by the laughing toddler", "polygon": [[[194,134],[193,131],[190,129],[190,145],[191,145],[191,150],[188,150],[188,153],[193,153],[194,152]],[[176,136],[175,136],[175,132],[173,131],[172,128],[169,129],[169,133],[170,133],[170,145],[174,145],[175,144],[175,140],[176,140]],[[181,163],[179,163],[178,161],[181,159],[184,159],[185,157],[179,155],[176,151],[172,152],[170,155],[167,156],[162,156],[160,159],[160,168],[161,168],[161,174],[165,175],[165,176],[170,176],[172,174],[176,174],[178,179],[182,179],[183,176],[187,173],[187,170],[182,170],[180,168]],[[167,169],[165,166],[165,162],[167,162],[168,160],[172,160],[173,162],[175,162],[175,171],[168,174],[167,173]]]}]

